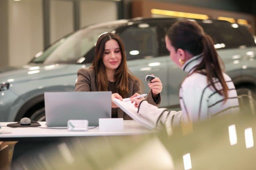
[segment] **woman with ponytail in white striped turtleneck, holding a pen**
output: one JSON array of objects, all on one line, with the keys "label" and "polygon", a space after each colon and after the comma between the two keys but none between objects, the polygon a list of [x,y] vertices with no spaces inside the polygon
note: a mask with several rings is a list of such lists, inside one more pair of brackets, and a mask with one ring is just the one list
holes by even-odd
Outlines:
[{"label": "woman with ponytail in white striped turtleneck, holding a pen", "polygon": [[239,111],[235,86],[223,73],[220,58],[210,36],[195,21],[180,20],[173,24],[165,37],[170,58],[188,76],[182,82],[179,97],[181,111],[167,111],[149,104],[144,98],[134,99],[138,113],[156,126],[194,123],[213,116]]}]

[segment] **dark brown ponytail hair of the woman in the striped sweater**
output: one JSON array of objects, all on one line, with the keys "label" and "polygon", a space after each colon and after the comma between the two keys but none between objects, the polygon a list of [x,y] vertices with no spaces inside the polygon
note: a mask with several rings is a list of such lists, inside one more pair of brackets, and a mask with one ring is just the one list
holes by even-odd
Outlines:
[{"label": "dark brown ponytail hair of the woman in the striped sweater", "polygon": [[[224,96],[226,101],[228,98],[228,87],[220,66],[220,61],[222,64],[223,62],[217,54],[212,38],[204,33],[203,28],[195,21],[180,20],[169,28],[166,36],[176,51],[178,48],[181,48],[194,56],[203,52],[203,60],[195,68],[194,72],[205,69],[207,81],[220,95]],[[217,90],[213,78],[219,80],[222,91]]]}]

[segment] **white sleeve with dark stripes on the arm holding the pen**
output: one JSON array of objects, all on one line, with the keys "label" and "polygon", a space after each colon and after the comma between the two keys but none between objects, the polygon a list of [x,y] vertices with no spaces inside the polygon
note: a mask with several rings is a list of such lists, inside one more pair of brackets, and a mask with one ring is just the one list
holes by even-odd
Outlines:
[{"label": "white sleeve with dark stripes on the arm holding the pen", "polygon": [[140,103],[138,113],[155,123],[157,127],[160,122],[166,127],[179,126],[182,117],[181,111],[168,111],[165,108],[158,108],[149,104],[146,100]]}]

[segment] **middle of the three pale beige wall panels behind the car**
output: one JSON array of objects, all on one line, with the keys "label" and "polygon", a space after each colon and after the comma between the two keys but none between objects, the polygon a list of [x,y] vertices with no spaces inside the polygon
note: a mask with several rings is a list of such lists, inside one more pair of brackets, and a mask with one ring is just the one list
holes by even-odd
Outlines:
[{"label": "middle of the three pale beige wall panels behind the car", "polygon": [[50,1],[50,43],[74,31],[73,2]]}]

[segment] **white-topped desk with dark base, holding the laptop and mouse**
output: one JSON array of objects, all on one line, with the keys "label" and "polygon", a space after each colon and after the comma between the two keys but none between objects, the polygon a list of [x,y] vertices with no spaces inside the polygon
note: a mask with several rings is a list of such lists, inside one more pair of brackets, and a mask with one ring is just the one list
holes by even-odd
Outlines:
[{"label": "white-topped desk with dark base, holding the laptop and mouse", "polygon": [[[68,131],[65,129],[48,128],[45,122],[38,127],[24,127],[24,128],[10,128],[5,127],[7,124],[15,122],[0,122],[1,131],[8,131],[11,133],[0,133],[0,141],[19,141],[15,144],[13,152],[13,160],[20,157],[24,152],[38,151],[39,148],[47,148],[49,145],[57,145],[63,141],[69,142],[73,138],[97,138],[100,136],[113,135],[141,135],[147,133],[154,133],[155,130],[148,130],[144,126],[135,121],[124,121],[123,131],[99,131],[99,127],[88,129],[88,131]],[[3,127],[4,126],[4,127]],[[61,127],[59,127],[61,128]]]}]

